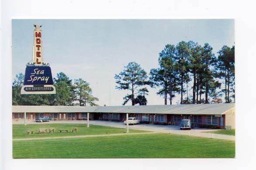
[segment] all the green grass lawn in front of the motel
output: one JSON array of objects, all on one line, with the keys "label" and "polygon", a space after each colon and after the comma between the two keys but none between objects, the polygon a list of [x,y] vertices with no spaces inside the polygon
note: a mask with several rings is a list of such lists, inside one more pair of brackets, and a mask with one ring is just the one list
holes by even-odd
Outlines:
[{"label": "all the green grass lawn in front of the motel", "polygon": [[[81,134],[123,133],[125,129],[85,124],[36,124],[14,125],[14,138],[27,138],[27,128],[38,127],[78,128]],[[130,130],[135,132],[135,130]],[[136,132],[142,132],[137,130]],[[34,134],[76,135],[78,133]],[[81,135],[80,134],[80,135]],[[49,136],[47,136],[49,137]],[[232,158],[235,157],[235,141],[167,133],[133,134],[109,137],[69,139],[14,140],[14,158]]]}]

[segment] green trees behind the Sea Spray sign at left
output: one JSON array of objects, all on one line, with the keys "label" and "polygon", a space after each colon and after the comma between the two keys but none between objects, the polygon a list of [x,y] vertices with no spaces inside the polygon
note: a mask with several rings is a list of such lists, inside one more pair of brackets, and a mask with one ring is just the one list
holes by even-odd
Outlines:
[{"label": "green trees behind the Sea Spray sign at left", "polygon": [[99,99],[92,96],[92,89],[85,80],[75,79],[74,83],[63,73],[57,73],[54,78],[56,94],[26,94],[21,95],[20,89],[24,83],[24,74],[16,75],[12,85],[13,105],[61,105],[61,106],[95,106]]}]

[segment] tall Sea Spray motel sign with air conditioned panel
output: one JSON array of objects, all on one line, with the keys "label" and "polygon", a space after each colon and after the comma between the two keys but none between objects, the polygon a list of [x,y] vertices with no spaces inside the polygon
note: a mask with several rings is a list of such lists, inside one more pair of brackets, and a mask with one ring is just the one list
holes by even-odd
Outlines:
[{"label": "tall Sea Spray motel sign with air conditioned panel", "polygon": [[27,63],[20,94],[55,94],[49,63],[43,61],[41,26],[34,25],[32,60]]}]

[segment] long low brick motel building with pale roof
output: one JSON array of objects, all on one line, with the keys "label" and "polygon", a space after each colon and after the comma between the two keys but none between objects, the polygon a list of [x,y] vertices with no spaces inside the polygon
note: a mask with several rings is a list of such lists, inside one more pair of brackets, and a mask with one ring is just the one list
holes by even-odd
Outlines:
[{"label": "long low brick motel building with pale roof", "polygon": [[[89,113],[89,114],[88,114]],[[126,113],[140,123],[176,125],[190,119],[193,127],[235,128],[235,103],[146,106],[12,106],[13,121],[35,121],[39,117],[58,120],[124,121]],[[26,118],[26,120],[24,120]]]}]

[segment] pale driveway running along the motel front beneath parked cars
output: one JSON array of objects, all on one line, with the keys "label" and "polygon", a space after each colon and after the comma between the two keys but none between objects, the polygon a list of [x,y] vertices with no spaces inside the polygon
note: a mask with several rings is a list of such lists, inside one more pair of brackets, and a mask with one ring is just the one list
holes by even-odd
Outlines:
[{"label": "pale driveway running along the motel front beneath parked cars", "polygon": [[[13,124],[23,124],[24,121],[14,121]],[[27,124],[35,124],[37,122],[27,121]],[[59,120],[59,121],[50,121],[43,123],[87,123],[87,120]],[[101,126],[109,126],[109,127],[118,127],[118,128],[126,128],[126,125],[122,122],[112,122],[112,121],[101,121],[101,120],[90,120],[90,124],[101,125]],[[235,136],[231,135],[222,135],[216,133],[203,133],[207,131],[214,131],[211,129],[191,129],[191,130],[179,130],[178,126],[172,125],[154,125],[154,124],[137,124],[137,125],[129,125],[129,129],[135,130],[146,130],[152,132],[159,133],[173,133],[180,135],[188,135],[195,137],[208,137],[215,139],[224,139],[224,140],[235,140]]]}]

